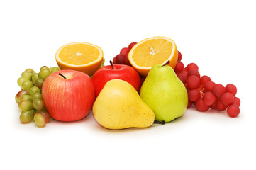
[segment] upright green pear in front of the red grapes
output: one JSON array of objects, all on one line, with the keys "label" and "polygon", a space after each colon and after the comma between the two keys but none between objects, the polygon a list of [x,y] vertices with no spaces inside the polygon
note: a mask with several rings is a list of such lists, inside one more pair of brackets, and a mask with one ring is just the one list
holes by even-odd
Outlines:
[{"label": "upright green pear in front of the red grapes", "polygon": [[155,113],[155,120],[170,122],[187,109],[187,89],[172,67],[157,64],[150,69],[140,89],[140,98]]}]

